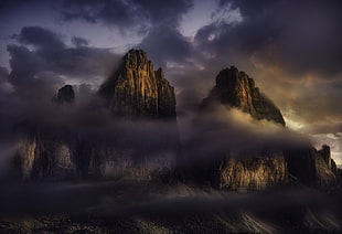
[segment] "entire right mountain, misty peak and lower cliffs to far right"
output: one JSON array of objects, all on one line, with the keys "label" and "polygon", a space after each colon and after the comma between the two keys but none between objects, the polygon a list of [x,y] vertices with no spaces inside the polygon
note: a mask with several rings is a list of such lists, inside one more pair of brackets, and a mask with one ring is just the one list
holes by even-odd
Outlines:
[{"label": "entire right mountain, misty peak and lower cliffs to far right", "polygon": [[[259,92],[253,78],[234,66],[218,73],[215,86],[201,104],[201,113],[211,111],[215,105],[235,107],[255,119],[285,126],[279,108]],[[201,125],[201,120],[197,123]],[[194,140],[202,142],[199,138],[203,138],[201,134]],[[229,140],[226,139],[227,143]],[[194,150],[188,153],[186,160],[191,172],[184,174],[189,180],[210,181],[221,189],[264,190],[293,181],[320,189],[335,185],[336,170],[328,146],[321,150],[307,146],[293,149],[274,146],[254,150],[213,149],[203,153]]]}]

